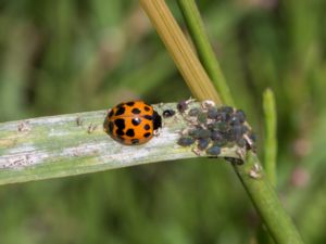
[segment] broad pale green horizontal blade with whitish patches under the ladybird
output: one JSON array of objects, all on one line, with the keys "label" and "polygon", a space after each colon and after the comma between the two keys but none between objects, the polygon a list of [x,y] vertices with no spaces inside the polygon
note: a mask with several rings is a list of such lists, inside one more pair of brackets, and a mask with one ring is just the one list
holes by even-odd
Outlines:
[{"label": "broad pale green horizontal blade with whitish patches under the ladybird", "polygon": [[[155,110],[162,114],[176,105]],[[0,184],[198,156],[176,143],[188,123],[179,114],[164,119],[158,138],[135,146],[122,145],[103,131],[105,115],[98,111],[0,124]],[[234,147],[223,149],[221,156],[239,157]]]}]

